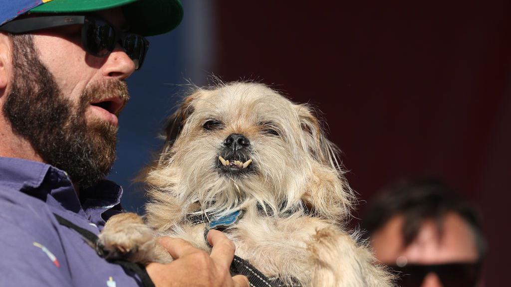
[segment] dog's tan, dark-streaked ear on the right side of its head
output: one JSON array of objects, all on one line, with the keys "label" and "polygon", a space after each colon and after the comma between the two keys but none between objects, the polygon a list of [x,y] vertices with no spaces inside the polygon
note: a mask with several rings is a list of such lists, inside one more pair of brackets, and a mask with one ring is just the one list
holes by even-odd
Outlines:
[{"label": "dog's tan, dark-streaked ear on the right side of its head", "polygon": [[306,151],[318,162],[338,169],[338,148],[324,135],[317,117],[314,116],[314,110],[306,104],[296,105],[295,108],[300,119]]}]

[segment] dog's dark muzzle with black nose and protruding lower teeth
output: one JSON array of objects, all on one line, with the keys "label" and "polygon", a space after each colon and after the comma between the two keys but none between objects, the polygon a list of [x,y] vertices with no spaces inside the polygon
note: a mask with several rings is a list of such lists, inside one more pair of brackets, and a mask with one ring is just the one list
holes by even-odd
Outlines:
[{"label": "dog's dark muzzle with black nose and protruding lower teeth", "polygon": [[250,141],[242,134],[233,133],[225,138],[218,156],[218,168],[231,174],[244,173],[252,169]]}]

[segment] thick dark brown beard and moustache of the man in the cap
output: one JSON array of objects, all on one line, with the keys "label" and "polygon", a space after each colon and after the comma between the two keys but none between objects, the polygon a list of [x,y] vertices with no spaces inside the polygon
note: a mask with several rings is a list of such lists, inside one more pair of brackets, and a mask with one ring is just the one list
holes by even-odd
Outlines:
[{"label": "thick dark brown beard and moustache of the man in the cap", "polygon": [[30,35],[14,35],[13,85],[3,106],[14,133],[28,140],[44,162],[67,173],[75,185],[87,188],[103,179],[115,160],[117,126],[87,123],[92,100],[129,99],[119,80],[85,88],[77,104],[64,97],[50,71],[37,56]]}]

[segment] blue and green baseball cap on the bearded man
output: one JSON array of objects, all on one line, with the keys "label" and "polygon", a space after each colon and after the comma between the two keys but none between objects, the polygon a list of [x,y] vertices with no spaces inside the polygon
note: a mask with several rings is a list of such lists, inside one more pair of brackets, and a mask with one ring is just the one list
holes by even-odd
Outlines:
[{"label": "blue and green baseball cap on the bearded man", "polygon": [[167,33],[179,25],[179,0],[8,0],[2,3],[0,25],[25,13],[80,13],[122,7],[129,32],[142,36]]}]

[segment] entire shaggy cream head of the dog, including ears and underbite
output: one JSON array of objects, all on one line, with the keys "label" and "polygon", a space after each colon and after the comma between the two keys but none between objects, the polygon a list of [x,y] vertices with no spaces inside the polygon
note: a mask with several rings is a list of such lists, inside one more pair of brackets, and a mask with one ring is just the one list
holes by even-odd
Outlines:
[{"label": "entire shaggy cream head of the dog, including ears and underbite", "polygon": [[256,205],[275,216],[308,210],[340,222],[351,209],[337,148],[313,110],[263,84],[198,88],[165,131],[160,159],[145,176],[148,213],[161,217],[155,222]]}]

